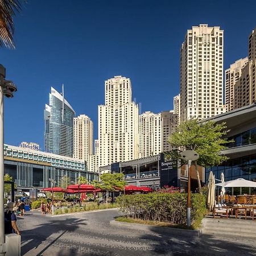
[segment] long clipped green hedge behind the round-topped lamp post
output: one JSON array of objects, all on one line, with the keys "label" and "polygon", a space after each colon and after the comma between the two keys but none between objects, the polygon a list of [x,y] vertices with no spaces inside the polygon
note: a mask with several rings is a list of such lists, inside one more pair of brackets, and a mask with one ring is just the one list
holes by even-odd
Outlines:
[{"label": "long clipped green hedge behind the round-topped lamp post", "polygon": [[[187,193],[148,193],[117,197],[122,212],[146,221],[185,224],[187,218]],[[191,221],[203,218],[206,210],[205,197],[191,194]]]}]

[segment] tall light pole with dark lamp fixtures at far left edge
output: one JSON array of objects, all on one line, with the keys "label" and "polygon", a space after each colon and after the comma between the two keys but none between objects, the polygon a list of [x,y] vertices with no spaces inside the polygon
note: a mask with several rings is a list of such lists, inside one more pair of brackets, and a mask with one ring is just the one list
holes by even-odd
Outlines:
[{"label": "tall light pole with dark lamp fixtures at far left edge", "polygon": [[3,209],[3,197],[5,193],[4,178],[5,166],[3,163],[3,96],[12,98],[17,88],[12,81],[5,80],[5,67],[0,64],[0,253],[5,253],[5,210]]}]

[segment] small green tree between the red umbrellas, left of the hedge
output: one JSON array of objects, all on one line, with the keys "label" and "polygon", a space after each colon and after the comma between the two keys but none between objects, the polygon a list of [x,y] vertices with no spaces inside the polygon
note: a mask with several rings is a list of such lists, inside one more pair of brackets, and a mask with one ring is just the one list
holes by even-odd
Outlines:
[{"label": "small green tree between the red umbrellas, left of the hedge", "polygon": [[[94,180],[94,187],[100,188],[106,191],[106,203],[108,203],[109,192],[114,192],[117,188],[123,189],[126,185],[126,181],[123,180],[124,175],[122,173],[118,174],[102,174],[100,176],[100,181]],[[113,199],[113,197],[112,197]]]}]

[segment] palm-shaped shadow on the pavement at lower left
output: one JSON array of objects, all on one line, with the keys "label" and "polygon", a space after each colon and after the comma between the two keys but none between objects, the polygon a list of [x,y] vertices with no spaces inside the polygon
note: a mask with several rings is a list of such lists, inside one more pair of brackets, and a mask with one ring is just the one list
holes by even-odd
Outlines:
[{"label": "palm-shaped shadow on the pavement at lower left", "polygon": [[[74,232],[79,228],[79,225],[87,225],[84,221],[86,220],[79,218],[68,218],[67,220],[56,220],[56,218],[52,218],[52,220],[48,220],[46,223],[38,225],[32,230],[24,230],[22,232],[21,255],[38,248],[38,246],[43,245],[44,241],[47,241],[43,249],[36,254],[42,255],[44,251],[59,240],[65,233]],[[49,239],[53,234],[55,236]],[[68,255],[76,255],[76,249],[71,250],[72,254]]]}]

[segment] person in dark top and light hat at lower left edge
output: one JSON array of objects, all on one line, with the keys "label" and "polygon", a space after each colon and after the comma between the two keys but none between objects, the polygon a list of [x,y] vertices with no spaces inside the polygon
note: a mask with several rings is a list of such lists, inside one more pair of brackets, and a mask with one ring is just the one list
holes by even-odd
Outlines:
[{"label": "person in dark top and light hat at lower left edge", "polygon": [[7,204],[5,212],[5,234],[18,234],[20,235],[18,226],[16,225],[16,215],[14,211],[18,210],[15,203],[10,202]]}]

